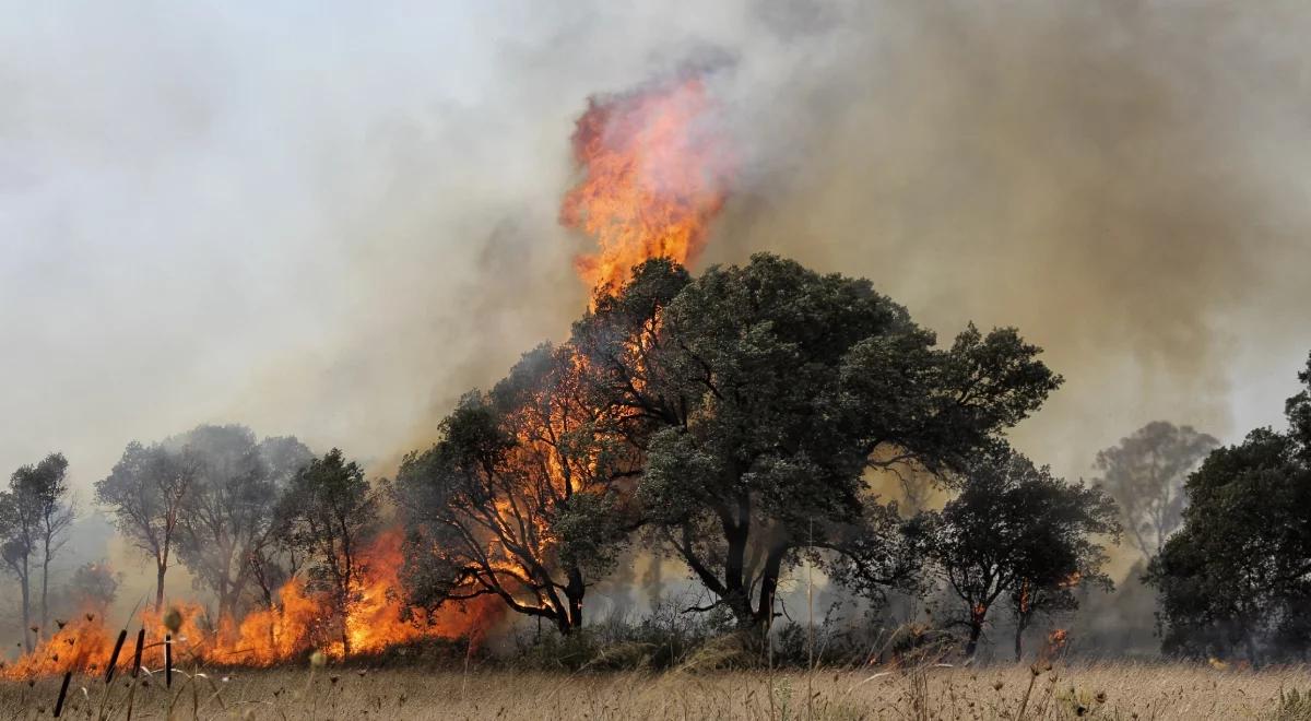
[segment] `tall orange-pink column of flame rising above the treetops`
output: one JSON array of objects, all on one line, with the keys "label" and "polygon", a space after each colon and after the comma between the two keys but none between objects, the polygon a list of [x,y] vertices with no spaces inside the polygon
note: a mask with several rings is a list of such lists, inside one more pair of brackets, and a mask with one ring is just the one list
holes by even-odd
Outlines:
[{"label": "tall orange-pink column of flame rising above the treetops", "polygon": [[591,98],[573,135],[582,180],[560,222],[595,237],[576,260],[589,287],[616,287],[649,258],[687,263],[728,198],[732,153],[700,77]]}]

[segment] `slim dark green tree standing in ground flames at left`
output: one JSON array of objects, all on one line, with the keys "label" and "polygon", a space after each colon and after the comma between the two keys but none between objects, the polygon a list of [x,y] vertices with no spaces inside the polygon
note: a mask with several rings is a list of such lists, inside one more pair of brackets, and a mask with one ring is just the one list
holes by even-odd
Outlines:
[{"label": "slim dark green tree standing in ground flames at left", "polygon": [[367,570],[359,553],[376,530],[378,506],[363,468],[337,448],[298,471],[279,505],[287,541],[305,555],[313,581],[333,600],[345,655],[350,603]]}]

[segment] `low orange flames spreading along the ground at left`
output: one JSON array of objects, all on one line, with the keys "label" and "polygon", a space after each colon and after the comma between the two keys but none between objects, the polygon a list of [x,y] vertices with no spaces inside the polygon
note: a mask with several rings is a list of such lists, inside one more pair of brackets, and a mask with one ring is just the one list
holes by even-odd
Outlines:
[{"label": "low orange flames spreading along the ground at left", "polygon": [[[490,599],[448,604],[435,614],[406,606],[400,596],[399,573],[402,561],[400,530],[382,534],[363,555],[367,570],[345,614],[346,637],[351,654],[371,654],[389,646],[422,638],[480,637],[503,612]],[[178,604],[182,624],[173,637],[173,665],[191,661],[223,666],[273,666],[303,658],[313,649],[329,658],[345,655],[341,619],[325,594],[307,589],[300,578],[288,581],[274,608],[248,614],[237,623],[219,619],[207,623],[197,604]],[[136,625],[136,624],[132,624]],[[146,629],[142,665],[164,666],[165,624],[155,610],[140,615]],[[5,678],[31,678],[68,670],[102,672],[109,665],[118,632],[96,614],[83,614],[45,638],[31,653],[0,670]],[[132,642],[125,645],[118,666],[134,662]]]}]

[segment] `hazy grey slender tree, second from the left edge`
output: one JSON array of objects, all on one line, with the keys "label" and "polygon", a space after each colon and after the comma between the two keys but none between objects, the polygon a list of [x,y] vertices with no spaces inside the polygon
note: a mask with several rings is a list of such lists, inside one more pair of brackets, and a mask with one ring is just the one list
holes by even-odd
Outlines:
[{"label": "hazy grey slender tree, second from the left edge", "polygon": [[114,513],[118,532],[155,561],[155,608],[164,608],[164,574],[172,560],[182,509],[201,472],[187,448],[131,442],[109,476],[96,482],[96,501]]}]

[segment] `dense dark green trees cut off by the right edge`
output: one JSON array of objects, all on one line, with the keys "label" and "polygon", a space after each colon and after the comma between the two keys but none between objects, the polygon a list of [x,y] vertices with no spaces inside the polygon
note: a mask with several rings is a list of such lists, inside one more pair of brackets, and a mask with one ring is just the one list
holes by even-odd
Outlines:
[{"label": "dense dark green trees cut off by the right edge", "polygon": [[1253,430],[1213,451],[1186,484],[1184,527],[1151,564],[1163,649],[1304,657],[1311,642],[1311,362],[1286,433]]}]

